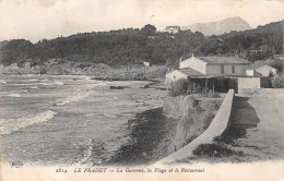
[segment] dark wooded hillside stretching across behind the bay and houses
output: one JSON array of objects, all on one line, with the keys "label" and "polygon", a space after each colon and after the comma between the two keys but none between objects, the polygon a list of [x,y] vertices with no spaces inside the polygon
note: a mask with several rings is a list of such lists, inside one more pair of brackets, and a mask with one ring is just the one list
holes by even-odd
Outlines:
[{"label": "dark wooded hillside stretching across behind the bay and houses", "polygon": [[[191,31],[177,34],[156,32],[155,26],[110,32],[93,32],[69,37],[43,39],[32,44],[13,39],[0,44],[0,61],[3,65],[29,62],[40,65],[48,59],[73,63],[104,63],[110,67],[139,64],[176,65],[182,57],[239,56],[251,62],[283,53],[283,23],[275,22],[256,29],[230,32],[220,36],[204,36]],[[59,62],[60,63],[60,62]]]}]

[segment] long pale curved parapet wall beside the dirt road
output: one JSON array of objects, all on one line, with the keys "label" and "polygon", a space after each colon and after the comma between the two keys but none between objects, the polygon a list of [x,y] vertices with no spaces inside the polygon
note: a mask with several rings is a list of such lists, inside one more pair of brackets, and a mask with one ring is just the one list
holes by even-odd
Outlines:
[{"label": "long pale curved parapet wall beside the dirt road", "polygon": [[211,122],[210,126],[196,140],[190,142],[188,145],[184,146],[179,150],[169,155],[168,157],[159,160],[154,165],[167,165],[175,164],[176,161],[188,158],[193,155],[193,150],[201,144],[211,144],[213,140],[220,136],[227,128],[228,120],[230,117],[232,106],[234,101],[235,92],[233,89],[228,90],[224,101],[222,102],[216,116]]}]

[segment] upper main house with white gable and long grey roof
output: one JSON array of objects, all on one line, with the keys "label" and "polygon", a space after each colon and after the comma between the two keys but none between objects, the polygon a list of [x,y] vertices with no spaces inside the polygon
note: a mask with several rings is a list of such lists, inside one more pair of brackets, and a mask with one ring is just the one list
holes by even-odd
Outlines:
[{"label": "upper main house with white gable and long grey roof", "polygon": [[238,57],[194,57],[180,61],[179,69],[191,68],[204,75],[245,75],[249,61]]}]

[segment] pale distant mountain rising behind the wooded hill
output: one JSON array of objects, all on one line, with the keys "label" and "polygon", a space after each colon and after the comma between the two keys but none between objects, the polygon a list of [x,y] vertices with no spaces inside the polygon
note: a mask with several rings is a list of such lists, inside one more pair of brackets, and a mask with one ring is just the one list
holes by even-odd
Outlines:
[{"label": "pale distant mountain rising behind the wooded hill", "polygon": [[191,32],[201,32],[205,36],[211,36],[211,35],[221,35],[232,31],[251,29],[251,27],[246,21],[244,21],[239,16],[236,16],[236,17],[228,17],[223,21],[211,22],[206,24],[197,23],[188,26],[181,26],[181,29],[182,31],[190,29]]}]

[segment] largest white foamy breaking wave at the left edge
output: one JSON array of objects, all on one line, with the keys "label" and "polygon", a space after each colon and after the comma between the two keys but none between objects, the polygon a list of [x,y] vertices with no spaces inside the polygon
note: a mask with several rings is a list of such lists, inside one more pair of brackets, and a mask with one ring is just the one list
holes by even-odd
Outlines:
[{"label": "largest white foamy breaking wave at the left edge", "polygon": [[0,121],[0,134],[11,134],[12,132],[27,128],[29,125],[46,122],[54,118],[57,112],[48,110],[36,116],[29,116],[27,118],[8,119]]}]

